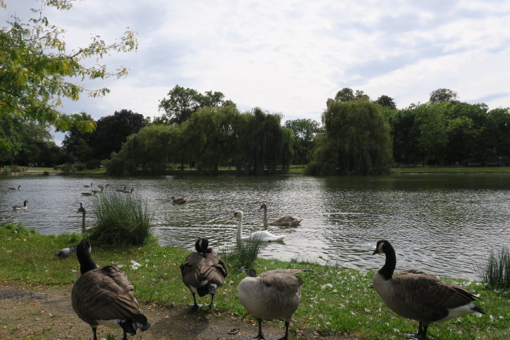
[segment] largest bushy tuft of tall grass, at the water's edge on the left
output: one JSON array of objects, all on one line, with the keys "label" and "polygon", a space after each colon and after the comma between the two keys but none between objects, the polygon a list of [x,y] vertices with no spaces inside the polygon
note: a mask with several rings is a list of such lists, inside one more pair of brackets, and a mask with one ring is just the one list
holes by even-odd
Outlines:
[{"label": "largest bushy tuft of tall grass, at the water's edge on the left", "polygon": [[91,242],[140,246],[152,237],[154,214],[138,196],[108,193],[93,200],[96,226],[86,232]]}]

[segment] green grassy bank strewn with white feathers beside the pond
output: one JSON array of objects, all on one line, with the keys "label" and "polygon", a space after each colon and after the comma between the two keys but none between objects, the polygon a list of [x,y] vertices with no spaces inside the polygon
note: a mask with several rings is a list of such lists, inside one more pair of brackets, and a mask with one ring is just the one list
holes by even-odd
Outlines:
[{"label": "green grassy bank strewn with white feathers beside the pond", "polygon": [[[77,275],[77,259],[75,256],[59,259],[54,253],[76,244],[80,238],[79,234],[45,236],[13,225],[0,227],[0,239],[3,240],[0,277],[4,282],[30,287],[70,286]],[[181,281],[179,271],[179,265],[188,255],[186,250],[152,242],[146,246],[116,250],[93,245],[92,254],[100,265],[113,263],[122,266],[135,285],[139,300],[176,306],[186,306],[193,301]],[[140,263],[140,268],[132,268],[131,261]],[[374,261],[382,263],[382,256],[374,256]],[[291,323],[293,331],[312,329],[324,334],[348,332],[363,339],[404,339],[404,333],[416,331],[415,322],[401,319],[388,310],[370,288],[373,272],[361,273],[336,266],[268,259],[256,260],[254,268],[258,273],[274,268],[314,270],[314,273],[300,275],[305,285],[300,307]],[[219,288],[215,298],[216,310],[228,310],[239,317],[247,316],[237,299],[237,285],[244,276],[244,273],[236,273],[231,268],[225,285]],[[480,305],[487,315],[480,317],[470,314],[443,324],[434,324],[429,334],[443,340],[509,339],[509,293],[486,290],[484,285],[476,282],[453,282],[465,285],[480,295]],[[200,300],[205,305],[210,301],[209,297]],[[249,315],[247,317],[251,318]]]}]

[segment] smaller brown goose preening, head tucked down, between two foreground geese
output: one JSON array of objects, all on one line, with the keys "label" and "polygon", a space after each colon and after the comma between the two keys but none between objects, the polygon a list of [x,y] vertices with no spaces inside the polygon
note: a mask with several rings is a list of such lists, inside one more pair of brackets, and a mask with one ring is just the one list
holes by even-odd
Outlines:
[{"label": "smaller brown goose preening, head tucked down, between two foreground geese", "polygon": [[183,283],[193,295],[193,308],[198,308],[196,294],[200,297],[210,294],[209,307],[212,307],[216,289],[223,284],[228,274],[225,262],[208,246],[208,239],[198,239],[195,243],[196,252],[189,254],[180,267]]}]

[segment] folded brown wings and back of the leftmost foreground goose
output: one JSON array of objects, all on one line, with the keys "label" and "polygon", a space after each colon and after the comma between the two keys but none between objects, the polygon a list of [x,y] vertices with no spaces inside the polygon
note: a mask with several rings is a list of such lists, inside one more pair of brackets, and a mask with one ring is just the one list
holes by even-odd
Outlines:
[{"label": "folded brown wings and back of the leftmost foreground goose", "polygon": [[89,324],[140,314],[133,286],[117,266],[98,267],[80,276],[72,288],[72,307]]}]

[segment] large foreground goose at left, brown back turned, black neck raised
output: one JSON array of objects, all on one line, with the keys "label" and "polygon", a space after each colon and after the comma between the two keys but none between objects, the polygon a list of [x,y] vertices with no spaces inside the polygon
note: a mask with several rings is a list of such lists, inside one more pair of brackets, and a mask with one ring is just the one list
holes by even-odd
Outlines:
[{"label": "large foreground goose at left, brown back turned, black neck raised", "polygon": [[90,325],[94,340],[99,324],[122,328],[123,340],[128,340],[128,333],[135,335],[137,329],[149,329],[124,271],[118,266],[97,267],[91,259],[91,245],[84,239],[77,246],[77,257],[81,276],[71,290],[72,307]]}]

